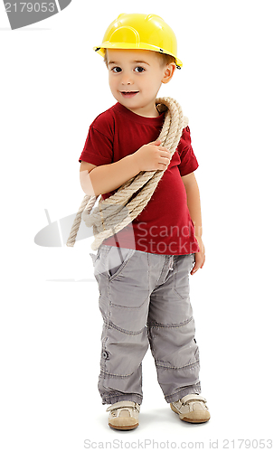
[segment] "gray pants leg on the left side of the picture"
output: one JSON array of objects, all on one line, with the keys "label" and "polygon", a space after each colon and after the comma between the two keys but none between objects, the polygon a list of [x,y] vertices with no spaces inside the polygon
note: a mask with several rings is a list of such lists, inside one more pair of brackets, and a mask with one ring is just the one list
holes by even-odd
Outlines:
[{"label": "gray pants leg on the left side of the picture", "polygon": [[141,404],[142,360],[149,347],[147,253],[101,245],[94,260],[104,320],[98,385],[102,403]]}]

